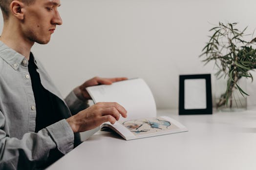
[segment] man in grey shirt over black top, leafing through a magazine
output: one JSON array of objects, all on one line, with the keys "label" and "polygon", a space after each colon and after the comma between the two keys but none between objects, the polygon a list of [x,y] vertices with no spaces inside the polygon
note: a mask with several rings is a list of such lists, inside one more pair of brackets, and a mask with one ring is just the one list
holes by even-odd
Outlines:
[{"label": "man in grey shirt over black top, leafing through a magazine", "polygon": [[0,169],[45,168],[79,144],[78,132],[127,116],[115,102],[85,109],[85,87],[126,78],[95,77],[64,101],[30,52],[35,42],[48,43],[62,24],[59,6],[60,0],[0,0]]}]

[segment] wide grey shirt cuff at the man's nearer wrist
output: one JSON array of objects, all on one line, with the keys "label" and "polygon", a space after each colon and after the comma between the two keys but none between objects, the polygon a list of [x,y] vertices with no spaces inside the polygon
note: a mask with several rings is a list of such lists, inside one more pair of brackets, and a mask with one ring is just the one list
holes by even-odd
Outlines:
[{"label": "wide grey shirt cuff at the man's nearer wrist", "polygon": [[66,119],[47,126],[46,129],[61,153],[66,154],[74,148],[74,133]]}]

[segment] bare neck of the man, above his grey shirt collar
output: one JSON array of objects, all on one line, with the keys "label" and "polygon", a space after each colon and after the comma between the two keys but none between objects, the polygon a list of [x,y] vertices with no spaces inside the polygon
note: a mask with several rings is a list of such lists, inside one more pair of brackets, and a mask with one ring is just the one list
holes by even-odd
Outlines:
[{"label": "bare neck of the man, above his grey shirt collar", "polygon": [[18,24],[12,21],[5,21],[3,24],[2,34],[0,41],[6,44],[11,49],[17,51],[29,60],[29,53],[35,42],[24,38],[21,28]]}]

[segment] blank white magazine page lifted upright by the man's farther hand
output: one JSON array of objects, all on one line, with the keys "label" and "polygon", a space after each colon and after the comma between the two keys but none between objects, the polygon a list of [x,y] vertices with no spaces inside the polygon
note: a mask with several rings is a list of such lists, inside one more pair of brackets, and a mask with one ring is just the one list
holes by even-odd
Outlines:
[{"label": "blank white magazine page lifted upright by the man's farther hand", "polygon": [[[86,90],[96,102],[118,102],[127,110],[127,119],[156,117],[156,106],[143,79],[129,79],[112,85],[96,85]],[[120,117],[119,121],[125,120]]]}]

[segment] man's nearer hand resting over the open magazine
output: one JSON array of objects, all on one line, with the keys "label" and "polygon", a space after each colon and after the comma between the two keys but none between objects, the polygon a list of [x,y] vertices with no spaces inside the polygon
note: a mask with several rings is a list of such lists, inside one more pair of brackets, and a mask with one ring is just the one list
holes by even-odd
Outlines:
[{"label": "man's nearer hand resting over the open magazine", "polygon": [[127,117],[126,109],[116,102],[97,102],[80,111],[78,114],[66,119],[74,133],[84,132],[100,126],[109,121],[114,124],[122,117]]}]

